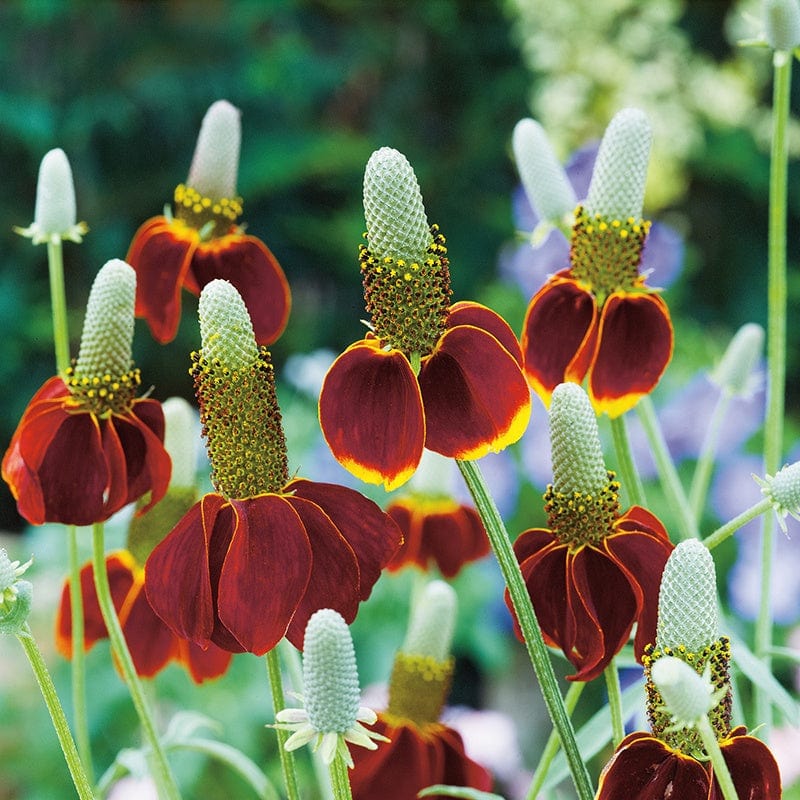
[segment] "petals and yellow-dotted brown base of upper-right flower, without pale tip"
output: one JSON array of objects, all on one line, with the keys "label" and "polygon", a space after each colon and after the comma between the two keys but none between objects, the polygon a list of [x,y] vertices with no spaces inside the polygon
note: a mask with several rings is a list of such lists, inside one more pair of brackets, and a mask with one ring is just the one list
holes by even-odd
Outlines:
[{"label": "petals and yellow-dotted brown base of upper-right flower, without pale tip", "polygon": [[585,378],[595,410],[616,417],[660,380],[673,330],[666,303],[638,272],[648,229],[576,212],[571,266],[533,296],[522,331],[525,375],[545,405],[559,383]]}]

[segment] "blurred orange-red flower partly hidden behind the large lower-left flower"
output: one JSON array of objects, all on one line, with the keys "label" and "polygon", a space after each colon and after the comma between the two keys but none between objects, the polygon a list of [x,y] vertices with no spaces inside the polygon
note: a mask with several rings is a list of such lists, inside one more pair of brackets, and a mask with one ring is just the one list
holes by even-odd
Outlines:
[{"label": "blurred orange-red flower partly hidden behind the large lower-left flower", "polygon": [[[222,675],[231,654],[216,645],[202,649],[194,642],[176,636],[156,615],[144,592],[144,562],[159,541],[197,500],[195,458],[195,414],[179,397],[163,403],[164,446],[172,458],[172,478],[167,493],[142,514],[128,523],[126,549],[106,556],[106,571],[111,597],[128,644],[133,665],[140,677],[151,678],[167,664],[182,664],[196,683]],[[143,500],[139,501],[144,504]],[[95,589],[91,563],[80,572],[80,587],[85,616],[84,650],[108,637]],[[72,658],[72,610],[69,580],[61,592],[56,616],[56,647]]]}]

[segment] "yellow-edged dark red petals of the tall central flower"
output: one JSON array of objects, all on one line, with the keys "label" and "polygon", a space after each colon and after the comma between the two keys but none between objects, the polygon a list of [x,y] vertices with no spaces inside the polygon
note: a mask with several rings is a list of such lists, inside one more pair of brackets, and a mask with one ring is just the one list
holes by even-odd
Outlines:
[{"label": "yellow-edged dark red petals of the tall central flower", "polygon": [[456,303],[445,313],[419,375],[406,350],[370,333],[325,376],[322,432],[334,456],[364,481],[391,490],[414,473],[423,447],[469,460],[502,450],[525,431],[530,392],[511,328],[477,303]]}]

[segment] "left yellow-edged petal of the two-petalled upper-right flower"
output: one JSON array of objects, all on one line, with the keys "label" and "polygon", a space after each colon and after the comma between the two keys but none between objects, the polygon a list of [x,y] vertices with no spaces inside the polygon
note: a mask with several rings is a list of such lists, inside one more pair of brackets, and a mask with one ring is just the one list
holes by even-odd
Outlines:
[{"label": "left yellow-edged petal of the two-petalled upper-right flower", "polygon": [[522,328],[522,357],[531,389],[550,406],[559,383],[580,383],[597,334],[597,305],[588,289],[559,273],[531,298]]}]

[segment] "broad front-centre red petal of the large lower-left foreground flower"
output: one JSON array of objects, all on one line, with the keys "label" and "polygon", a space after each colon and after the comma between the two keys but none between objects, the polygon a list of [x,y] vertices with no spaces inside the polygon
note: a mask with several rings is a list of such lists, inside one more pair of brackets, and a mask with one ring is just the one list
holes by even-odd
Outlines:
[{"label": "broad front-centre red petal of the large lower-left foreground flower", "polygon": [[242,647],[263,655],[284,636],[311,576],[312,548],[286,498],[231,500],[236,527],[219,576],[217,608]]}]

